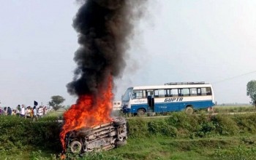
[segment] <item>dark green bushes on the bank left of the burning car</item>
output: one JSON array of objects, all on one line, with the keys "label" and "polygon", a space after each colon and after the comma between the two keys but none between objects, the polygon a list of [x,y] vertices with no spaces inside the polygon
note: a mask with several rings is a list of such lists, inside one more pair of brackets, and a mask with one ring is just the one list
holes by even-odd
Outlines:
[{"label": "dark green bushes on the bank left of the burning car", "polygon": [[31,121],[19,116],[0,116],[0,151],[39,146],[61,151],[57,121]]}]

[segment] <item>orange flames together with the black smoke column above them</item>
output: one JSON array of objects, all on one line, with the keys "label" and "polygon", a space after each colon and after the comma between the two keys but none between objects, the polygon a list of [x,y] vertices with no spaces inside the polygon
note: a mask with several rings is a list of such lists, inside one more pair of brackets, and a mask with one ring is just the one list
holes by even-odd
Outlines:
[{"label": "orange flames together with the black smoke column above them", "polygon": [[78,67],[67,84],[76,104],[64,113],[60,138],[65,150],[69,131],[112,121],[113,78],[125,68],[125,53],[133,26],[146,0],[83,0],[73,21],[80,47],[74,60]]}]

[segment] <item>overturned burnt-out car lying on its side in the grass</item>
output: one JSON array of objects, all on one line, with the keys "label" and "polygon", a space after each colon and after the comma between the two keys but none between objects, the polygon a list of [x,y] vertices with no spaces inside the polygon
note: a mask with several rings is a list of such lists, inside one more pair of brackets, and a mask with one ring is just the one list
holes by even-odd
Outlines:
[{"label": "overturned burnt-out car lying on its side in the grass", "polygon": [[96,127],[83,127],[67,132],[65,141],[72,153],[107,151],[127,144],[127,121],[122,117],[113,118]]}]

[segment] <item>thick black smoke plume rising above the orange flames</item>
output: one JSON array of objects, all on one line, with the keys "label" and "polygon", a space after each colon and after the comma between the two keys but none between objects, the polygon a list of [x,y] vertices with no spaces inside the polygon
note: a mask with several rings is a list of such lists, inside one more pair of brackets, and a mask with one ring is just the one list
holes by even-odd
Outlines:
[{"label": "thick black smoke plume rising above the orange flames", "polygon": [[121,76],[124,56],[136,20],[146,0],[83,0],[73,20],[80,47],[74,60],[78,67],[67,84],[71,95],[97,94],[109,76]]}]

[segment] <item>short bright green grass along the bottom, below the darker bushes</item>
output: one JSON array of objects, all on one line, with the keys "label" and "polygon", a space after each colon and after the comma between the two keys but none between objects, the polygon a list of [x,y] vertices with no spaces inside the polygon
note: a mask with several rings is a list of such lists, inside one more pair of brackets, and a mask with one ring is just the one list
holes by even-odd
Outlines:
[{"label": "short bright green grass along the bottom, below the darker bushes", "polygon": [[[254,159],[256,136],[174,139],[170,137],[131,138],[127,145],[80,159]],[[251,142],[251,143],[249,143]],[[20,151],[1,159],[59,159],[51,151]]]}]

